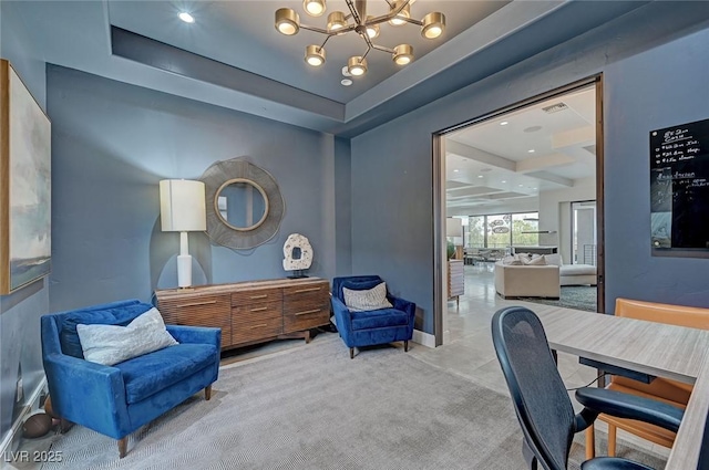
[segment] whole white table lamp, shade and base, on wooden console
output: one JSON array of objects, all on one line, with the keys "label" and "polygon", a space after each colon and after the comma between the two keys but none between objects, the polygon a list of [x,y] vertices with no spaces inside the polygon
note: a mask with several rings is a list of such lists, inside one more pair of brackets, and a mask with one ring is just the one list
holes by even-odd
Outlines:
[{"label": "whole white table lamp, shade and base, on wooden console", "polygon": [[189,288],[192,257],[187,232],[207,229],[204,182],[187,179],[160,181],[160,218],[164,232],[179,232],[177,285]]}]

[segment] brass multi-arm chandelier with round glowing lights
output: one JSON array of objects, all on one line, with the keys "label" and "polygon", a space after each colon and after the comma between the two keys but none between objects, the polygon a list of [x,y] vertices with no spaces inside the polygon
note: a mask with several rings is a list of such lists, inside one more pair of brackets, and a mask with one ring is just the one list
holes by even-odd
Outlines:
[{"label": "brass multi-arm chandelier with round glowing lights", "polygon": [[[423,17],[421,21],[411,18],[410,0],[390,1],[389,12],[380,17],[367,15],[367,0],[346,0],[349,14],[341,11],[333,11],[328,14],[326,29],[309,27],[300,23],[300,17],[290,8],[276,10],[276,29],[285,35],[297,34],[300,29],[326,34],[322,44],[310,44],[306,46],[305,61],[308,65],[320,66],[325,63],[325,44],[336,35],[356,32],[367,43],[367,51],[362,55],[353,55],[347,61],[347,71],[352,76],[361,76],[367,73],[367,54],[374,49],[391,54],[391,59],[397,65],[407,65],[413,60],[413,46],[411,44],[399,44],[393,49],[374,44],[372,40],[379,35],[379,25],[388,22],[393,27],[412,23],[421,27],[421,35],[425,39],[436,39],[445,29],[445,15],[438,11]],[[320,17],[327,8],[326,0],[304,0],[302,8],[310,17]]]}]

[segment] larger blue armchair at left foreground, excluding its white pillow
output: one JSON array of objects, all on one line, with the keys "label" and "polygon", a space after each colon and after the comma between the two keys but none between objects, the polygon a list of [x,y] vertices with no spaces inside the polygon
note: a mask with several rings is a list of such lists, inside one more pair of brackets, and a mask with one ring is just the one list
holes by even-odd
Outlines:
[{"label": "larger blue armchair at left foreground, excluding its white pillow", "polygon": [[105,366],[84,359],[76,325],[125,326],[153,305],[137,300],[43,315],[42,361],[52,409],[62,429],[74,422],[119,440],[204,389],[208,400],[219,374],[222,330],[167,325],[179,343]]}]

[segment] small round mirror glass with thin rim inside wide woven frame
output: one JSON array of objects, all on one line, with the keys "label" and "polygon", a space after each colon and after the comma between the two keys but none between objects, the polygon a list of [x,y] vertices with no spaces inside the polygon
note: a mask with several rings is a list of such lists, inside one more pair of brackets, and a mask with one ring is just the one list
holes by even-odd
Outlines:
[{"label": "small round mirror glass with thin rim inside wide woven frame", "polygon": [[268,196],[264,188],[245,178],[226,181],[214,198],[217,216],[234,230],[260,227],[268,215]]}]

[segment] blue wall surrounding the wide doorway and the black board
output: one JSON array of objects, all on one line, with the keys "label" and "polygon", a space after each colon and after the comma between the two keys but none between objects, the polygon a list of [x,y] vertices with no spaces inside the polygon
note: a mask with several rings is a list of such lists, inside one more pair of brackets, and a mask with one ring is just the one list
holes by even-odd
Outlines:
[{"label": "blue wall surrounding the wide doorway and the black board", "polygon": [[709,306],[709,260],[650,257],[648,182],[648,132],[709,117],[708,19],[705,2],[653,2],[353,138],[352,271],[381,274],[432,333],[432,134],[604,72],[606,311]]}]

